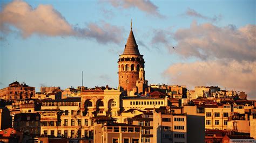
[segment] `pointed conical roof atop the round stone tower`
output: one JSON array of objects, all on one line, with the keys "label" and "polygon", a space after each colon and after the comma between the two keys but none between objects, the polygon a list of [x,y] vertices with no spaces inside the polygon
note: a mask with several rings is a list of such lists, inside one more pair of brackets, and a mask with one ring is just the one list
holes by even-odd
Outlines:
[{"label": "pointed conical roof atop the round stone tower", "polygon": [[124,48],[123,55],[140,55],[138,45],[136,43],[136,40],[132,32],[132,26],[131,26],[131,31]]}]

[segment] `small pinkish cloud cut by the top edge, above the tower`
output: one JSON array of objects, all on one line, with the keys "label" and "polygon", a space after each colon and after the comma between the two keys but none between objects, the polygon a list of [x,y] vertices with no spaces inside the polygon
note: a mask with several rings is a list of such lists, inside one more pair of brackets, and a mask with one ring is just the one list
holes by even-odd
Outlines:
[{"label": "small pinkish cloud cut by the top edge, above the tower", "polygon": [[146,12],[149,15],[157,16],[157,17],[164,17],[158,12],[158,7],[154,5],[149,0],[109,0],[110,4],[116,8],[123,8],[123,9],[130,9],[130,8],[138,8],[139,10]]}]

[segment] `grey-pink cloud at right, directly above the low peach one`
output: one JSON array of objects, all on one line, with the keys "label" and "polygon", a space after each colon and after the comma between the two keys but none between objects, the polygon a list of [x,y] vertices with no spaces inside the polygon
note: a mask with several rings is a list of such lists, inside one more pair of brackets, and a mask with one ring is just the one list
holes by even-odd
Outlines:
[{"label": "grey-pink cloud at right, directly above the low peach one", "polygon": [[206,59],[232,59],[255,61],[255,25],[239,29],[233,26],[218,27],[210,23],[193,22],[190,28],[180,28],[174,33],[177,53]]}]

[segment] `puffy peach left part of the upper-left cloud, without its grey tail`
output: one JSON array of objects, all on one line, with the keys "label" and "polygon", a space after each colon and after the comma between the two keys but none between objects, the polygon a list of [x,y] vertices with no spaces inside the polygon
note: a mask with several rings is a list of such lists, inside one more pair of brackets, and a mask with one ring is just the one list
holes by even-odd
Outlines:
[{"label": "puffy peach left part of the upper-left cloud, without its grey tail", "polygon": [[51,5],[33,9],[23,1],[13,1],[0,12],[0,29],[9,31],[9,25],[21,30],[23,37],[33,33],[56,36],[72,34],[72,27]]}]

